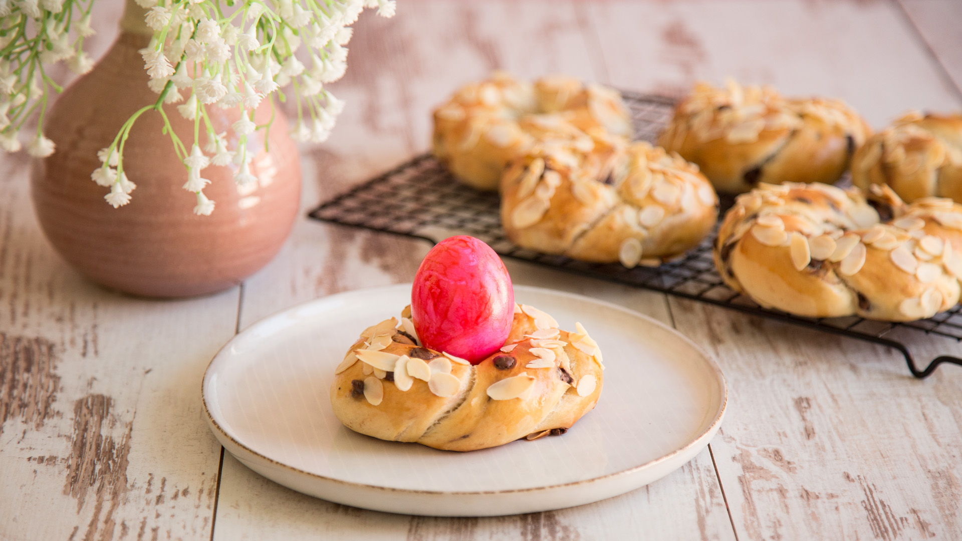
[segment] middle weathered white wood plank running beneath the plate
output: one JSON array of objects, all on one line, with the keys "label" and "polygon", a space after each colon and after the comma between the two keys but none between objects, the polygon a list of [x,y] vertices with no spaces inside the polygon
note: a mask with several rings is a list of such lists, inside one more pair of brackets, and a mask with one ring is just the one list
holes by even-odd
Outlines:
[{"label": "middle weathered white wood plank running beneath the plate", "polygon": [[[307,149],[305,204],[391,167],[427,147],[429,111],[457,85],[495,67],[519,76],[563,71],[603,79],[589,58],[585,21],[557,3],[418,2],[391,21],[359,22],[351,68],[339,83],[348,108],[332,142]],[[518,54],[524,51],[524,54]],[[302,220],[291,243],[244,287],[241,327],[296,302],[409,281],[430,247],[401,237]],[[516,283],[620,302],[670,322],[665,297],[560,271],[508,262]],[[494,519],[375,513],[315,500],[227,457],[215,539],[591,539],[636,532],[657,538],[731,539],[707,451],[670,477],[609,502]]]}]

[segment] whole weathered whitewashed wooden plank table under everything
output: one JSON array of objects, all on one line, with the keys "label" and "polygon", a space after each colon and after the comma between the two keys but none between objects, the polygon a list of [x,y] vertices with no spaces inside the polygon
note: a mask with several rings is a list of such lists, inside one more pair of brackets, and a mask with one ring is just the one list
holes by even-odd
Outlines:
[{"label": "whole weathered whitewashed wooden plank table under everything", "polygon": [[[303,148],[305,210],[425,150],[430,108],[493,68],[669,94],[732,75],[845,98],[876,127],[962,106],[957,0],[399,4],[356,26],[337,84],[347,110],[331,142]],[[102,51],[118,11],[99,14]],[[958,367],[917,381],[887,348],[513,262],[517,283],[620,302],[714,353],[731,404],[709,449],[641,490],[532,515],[409,517],[302,496],[221,450],[201,416],[207,363],[292,304],[411,280],[429,245],[302,216],[241,287],[115,295],[46,243],[28,166],[0,158],[4,541],[962,538]],[[921,359],[962,355],[911,338]]]}]

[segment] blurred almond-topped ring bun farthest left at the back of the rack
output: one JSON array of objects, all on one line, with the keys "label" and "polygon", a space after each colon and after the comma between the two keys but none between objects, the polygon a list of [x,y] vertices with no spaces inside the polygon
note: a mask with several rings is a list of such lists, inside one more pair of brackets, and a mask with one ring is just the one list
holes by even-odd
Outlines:
[{"label": "blurred almond-topped ring bun farthest left at the back of the rack", "polygon": [[563,76],[534,84],[503,72],[455,92],[434,112],[434,155],[459,181],[497,190],[508,163],[539,142],[566,142],[589,152],[587,134],[628,138],[631,120],[620,93]]}]

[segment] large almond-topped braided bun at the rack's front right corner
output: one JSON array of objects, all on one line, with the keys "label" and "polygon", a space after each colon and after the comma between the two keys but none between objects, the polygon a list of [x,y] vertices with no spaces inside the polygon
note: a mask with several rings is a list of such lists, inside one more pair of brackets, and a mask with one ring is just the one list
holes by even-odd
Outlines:
[{"label": "large almond-topped braided bun at the rack's front right corner", "polygon": [[732,289],[797,316],[930,318],[959,300],[962,205],[910,205],[876,189],[881,221],[857,190],[761,185],[722,221],[715,264]]}]

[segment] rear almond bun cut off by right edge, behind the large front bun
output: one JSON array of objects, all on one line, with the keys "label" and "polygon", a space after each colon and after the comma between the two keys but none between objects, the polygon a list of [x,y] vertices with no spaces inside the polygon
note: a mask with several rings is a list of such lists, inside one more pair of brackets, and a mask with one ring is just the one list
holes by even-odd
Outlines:
[{"label": "rear almond bun cut off by right edge, behind the large front bun", "polygon": [[932,196],[962,202],[962,115],[899,117],[855,152],[851,180],[863,190],[887,184],[908,202]]}]

